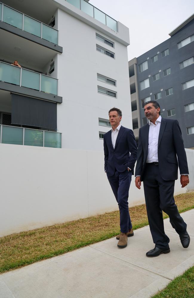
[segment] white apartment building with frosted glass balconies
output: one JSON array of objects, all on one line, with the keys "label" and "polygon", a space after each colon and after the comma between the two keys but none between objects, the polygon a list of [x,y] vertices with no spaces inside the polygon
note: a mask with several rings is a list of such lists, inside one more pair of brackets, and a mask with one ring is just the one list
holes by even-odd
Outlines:
[{"label": "white apartment building with frosted glass balconies", "polygon": [[127,27],[85,0],[0,1],[0,143],[102,151],[114,106],[132,128]]}]

